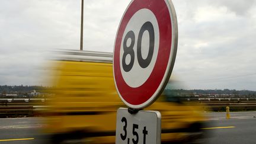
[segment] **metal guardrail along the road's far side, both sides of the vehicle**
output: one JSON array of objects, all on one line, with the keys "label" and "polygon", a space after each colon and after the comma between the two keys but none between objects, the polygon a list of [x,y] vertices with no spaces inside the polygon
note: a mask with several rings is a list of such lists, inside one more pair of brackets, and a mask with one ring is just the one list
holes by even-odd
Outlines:
[{"label": "metal guardrail along the road's far side, both sides of the vehicle", "polygon": [[[12,99],[0,98],[0,117],[24,117],[39,116],[40,111],[45,110],[47,99]],[[225,111],[230,107],[231,111],[256,110],[256,99],[201,99],[187,100],[188,104],[201,105],[206,111]]]}]

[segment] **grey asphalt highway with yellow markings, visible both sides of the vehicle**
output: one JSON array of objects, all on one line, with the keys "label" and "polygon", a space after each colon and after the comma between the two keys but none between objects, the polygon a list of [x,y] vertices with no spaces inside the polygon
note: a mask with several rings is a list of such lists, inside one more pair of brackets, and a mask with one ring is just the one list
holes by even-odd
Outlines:
[{"label": "grey asphalt highway with yellow markings, visible both sides of the vehicle", "polygon": [[[205,143],[256,143],[256,111],[231,113],[206,113],[210,123],[204,127],[210,135]],[[47,143],[40,134],[41,118],[0,119],[0,143]]]}]

